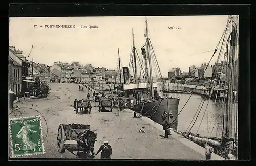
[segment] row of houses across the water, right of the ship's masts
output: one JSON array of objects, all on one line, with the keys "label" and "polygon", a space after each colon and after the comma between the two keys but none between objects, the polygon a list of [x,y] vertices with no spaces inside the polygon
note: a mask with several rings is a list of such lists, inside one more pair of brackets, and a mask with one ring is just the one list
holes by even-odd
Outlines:
[{"label": "row of houses across the water, right of the ship's masts", "polygon": [[195,65],[188,68],[188,72],[181,72],[180,68],[172,68],[168,72],[168,80],[175,79],[177,77],[184,78],[194,78],[194,79],[208,79],[211,77],[216,77],[218,74],[227,75],[228,65],[226,62],[221,61],[220,63],[215,63],[214,65],[207,65],[202,63],[200,67]]}]

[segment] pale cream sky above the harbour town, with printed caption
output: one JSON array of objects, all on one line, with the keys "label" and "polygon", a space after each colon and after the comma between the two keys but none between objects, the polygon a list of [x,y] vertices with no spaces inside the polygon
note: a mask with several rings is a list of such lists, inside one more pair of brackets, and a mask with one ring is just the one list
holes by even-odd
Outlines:
[{"label": "pale cream sky above the harbour town, with printed caption", "polygon": [[[208,63],[221,39],[228,16],[147,16],[148,34],[164,77],[179,67]],[[35,28],[37,25],[37,28]],[[75,28],[46,28],[75,25]],[[97,26],[97,28],[89,28]],[[42,27],[40,27],[42,26]],[[81,28],[87,26],[87,28]],[[168,27],[180,29],[168,29]],[[129,65],[132,28],[139,56],[145,44],[145,17],[27,17],[10,18],[9,45],[23,50],[34,62],[92,64],[117,69],[118,48],[122,67]],[[218,51],[217,51],[218,53]],[[214,65],[217,54],[210,65]]]}]

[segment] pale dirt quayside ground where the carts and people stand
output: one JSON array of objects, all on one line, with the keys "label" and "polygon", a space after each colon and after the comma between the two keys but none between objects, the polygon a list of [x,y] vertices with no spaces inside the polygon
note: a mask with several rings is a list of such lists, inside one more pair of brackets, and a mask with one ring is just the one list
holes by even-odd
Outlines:
[{"label": "pale dirt quayside ground where the carts and people stand", "polygon": [[[60,154],[57,150],[57,131],[59,124],[88,124],[92,131],[98,134],[95,143],[95,152],[105,140],[112,146],[113,159],[205,159],[203,155],[183,145],[180,141],[170,137],[164,139],[159,135],[164,132],[157,130],[140,119],[134,119],[133,113],[98,112],[98,107],[93,103],[91,114],[76,114],[73,111],[75,98],[86,99],[87,89],[78,91],[78,84],[51,83],[51,93],[48,99],[22,99],[14,107],[28,107],[39,111],[46,119],[42,122],[44,135],[45,154],[32,155],[29,158],[76,158],[67,150]],[[92,93],[92,92],[91,92]],[[60,99],[58,99],[58,97]],[[33,106],[32,106],[33,104]],[[36,105],[38,107],[36,107]],[[22,116],[32,116],[36,112],[24,109]],[[139,133],[145,126],[146,133]],[[100,154],[95,158],[99,158]]]}]

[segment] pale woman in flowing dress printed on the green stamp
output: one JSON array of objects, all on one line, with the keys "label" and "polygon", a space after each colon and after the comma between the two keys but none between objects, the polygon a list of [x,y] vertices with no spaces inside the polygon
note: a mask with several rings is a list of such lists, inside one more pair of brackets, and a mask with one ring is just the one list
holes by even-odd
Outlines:
[{"label": "pale woman in flowing dress printed on the green stamp", "polygon": [[35,125],[30,125],[27,123],[27,121],[23,121],[23,127],[19,130],[16,137],[19,139],[22,139],[22,146],[20,147],[20,150],[23,150],[25,152],[36,150],[36,144],[29,140],[28,133],[35,133],[36,131],[30,129],[31,127],[34,127]]}]

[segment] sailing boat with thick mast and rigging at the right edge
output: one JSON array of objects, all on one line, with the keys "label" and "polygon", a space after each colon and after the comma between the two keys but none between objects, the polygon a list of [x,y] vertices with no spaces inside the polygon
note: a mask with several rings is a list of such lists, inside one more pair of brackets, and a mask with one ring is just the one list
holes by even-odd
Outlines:
[{"label": "sailing boat with thick mast and rigging at the right edge", "polygon": [[[182,133],[182,135],[201,146],[204,146],[206,143],[211,144],[215,149],[214,153],[216,153],[220,156],[223,156],[225,159],[230,159],[230,156],[233,156],[232,159],[237,159],[238,107],[236,106],[236,104],[233,104],[232,101],[233,101],[233,98],[235,98],[235,99],[237,98],[237,89],[238,89],[238,16],[229,16],[228,17],[228,22],[227,22],[227,25],[226,25],[226,28],[224,30],[222,37],[223,37],[223,39],[221,38],[220,41],[221,40],[223,40],[223,41],[222,41],[222,46],[220,49],[220,54],[218,56],[217,62],[220,60],[220,57],[224,54],[224,59],[225,59],[226,63],[228,64],[227,65],[228,67],[226,67],[226,79],[223,82],[223,81],[221,81],[221,79],[216,78],[218,81],[214,82],[214,87],[215,86],[224,87],[223,89],[221,89],[224,91],[224,96],[222,98],[217,98],[217,95],[215,96],[215,103],[217,102],[217,100],[219,100],[219,106],[221,106],[222,107],[221,109],[223,110],[222,132],[220,133],[219,137],[218,136],[216,136],[216,137],[210,136],[212,133],[212,130],[214,130],[214,127],[212,127],[212,130],[210,132],[211,121],[208,126],[208,113],[207,113],[207,135],[202,137],[202,136],[199,136],[199,134],[196,135],[196,134],[191,133],[190,131],[193,128],[193,126],[197,120],[197,117],[201,111],[201,109],[200,110],[198,109],[197,112],[195,113],[195,116],[193,117],[193,120],[191,120],[191,123],[189,124],[186,132]],[[226,49],[224,49],[224,46],[223,46],[224,43],[226,43]],[[215,52],[216,51],[217,51],[217,49],[215,50]],[[212,57],[213,56],[214,55],[212,55]],[[222,70],[223,70],[223,68],[224,68],[224,66],[222,66]],[[218,77],[218,76],[216,76],[216,77]],[[212,83],[212,81],[211,81],[211,83]],[[211,99],[212,92],[209,95],[210,95],[209,99]],[[227,98],[227,99],[225,99],[225,98]],[[205,98],[203,98],[202,100],[203,100],[203,104],[204,104]],[[225,101],[227,101],[227,102],[225,102]],[[209,100],[208,100],[208,102],[209,102]],[[203,106],[203,104],[202,104],[202,106]],[[202,106],[201,106],[201,108],[202,108]],[[200,105],[199,105],[199,107],[200,107]],[[207,107],[208,107],[208,103],[207,103],[206,109],[204,111],[204,115],[206,113]],[[197,114],[197,117],[196,117],[196,114]],[[203,115],[203,117],[204,117],[204,115]],[[202,117],[202,120],[203,120],[203,117]],[[194,118],[195,118],[195,120],[194,120]],[[201,120],[201,123],[202,123],[202,120]],[[192,123],[193,121],[194,121],[194,123]],[[201,125],[201,123],[200,123],[200,125]],[[191,125],[191,127],[190,127],[190,125]],[[200,128],[200,125],[199,125],[198,129]],[[218,128],[217,128],[217,130],[218,130]],[[198,130],[197,130],[197,132],[198,132]]]}]

